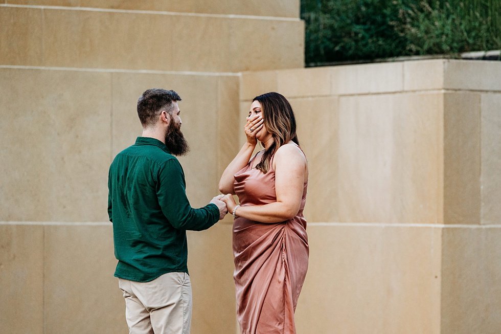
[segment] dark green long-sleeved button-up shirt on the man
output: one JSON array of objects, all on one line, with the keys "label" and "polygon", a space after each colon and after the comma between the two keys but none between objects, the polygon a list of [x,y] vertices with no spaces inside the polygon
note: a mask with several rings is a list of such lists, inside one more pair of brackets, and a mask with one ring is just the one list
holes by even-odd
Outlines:
[{"label": "dark green long-sleeved button-up shirt on the man", "polygon": [[115,276],[147,282],[165,273],[188,273],[186,230],[210,228],[219,210],[215,204],[190,206],[183,168],[167,146],[138,137],[111,163],[108,190]]}]

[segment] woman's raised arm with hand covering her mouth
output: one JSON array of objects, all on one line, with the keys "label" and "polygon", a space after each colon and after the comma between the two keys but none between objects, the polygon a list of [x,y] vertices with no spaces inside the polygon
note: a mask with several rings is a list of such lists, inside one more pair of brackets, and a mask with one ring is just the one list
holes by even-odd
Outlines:
[{"label": "woman's raised arm with hand covering her mouth", "polygon": [[[236,172],[245,167],[250,160],[252,152],[256,147],[256,132],[258,132],[263,126],[263,120],[260,116],[254,119],[248,119],[245,124],[244,131],[247,136],[247,141],[243,144],[240,151],[237,153],[236,157],[232,162],[226,167],[223,174],[221,175],[221,180],[219,180],[219,191],[223,194],[235,194],[233,191],[233,182]],[[250,131],[250,129],[253,131]]]}]

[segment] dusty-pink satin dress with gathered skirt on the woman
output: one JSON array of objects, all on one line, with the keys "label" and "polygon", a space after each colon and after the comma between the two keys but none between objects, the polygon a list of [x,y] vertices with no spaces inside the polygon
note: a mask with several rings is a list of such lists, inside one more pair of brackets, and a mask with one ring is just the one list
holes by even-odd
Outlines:
[{"label": "dusty-pink satin dress with gathered skirt on the woman", "polygon": [[[277,201],[275,171],[253,167],[256,155],[234,177],[234,191],[241,206]],[[303,210],[277,223],[236,217],[233,222],[234,281],[237,318],[241,334],[294,334],[294,311],[308,269],[308,237]]]}]

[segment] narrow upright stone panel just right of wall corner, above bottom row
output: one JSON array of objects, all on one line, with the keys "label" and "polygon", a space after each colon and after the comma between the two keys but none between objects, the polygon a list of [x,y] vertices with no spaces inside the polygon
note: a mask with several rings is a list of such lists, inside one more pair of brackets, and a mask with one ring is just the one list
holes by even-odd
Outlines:
[{"label": "narrow upright stone panel just right of wall corner, above bottom row", "polygon": [[444,222],[480,224],[480,95],[444,95]]}]

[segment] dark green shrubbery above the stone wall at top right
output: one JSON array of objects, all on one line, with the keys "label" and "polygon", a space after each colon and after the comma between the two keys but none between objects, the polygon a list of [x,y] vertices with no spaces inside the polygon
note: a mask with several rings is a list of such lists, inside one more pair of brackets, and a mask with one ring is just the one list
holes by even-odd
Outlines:
[{"label": "dark green shrubbery above the stone wall at top right", "polygon": [[500,0],[302,0],[307,65],[495,50]]}]

